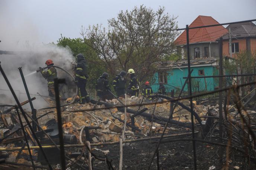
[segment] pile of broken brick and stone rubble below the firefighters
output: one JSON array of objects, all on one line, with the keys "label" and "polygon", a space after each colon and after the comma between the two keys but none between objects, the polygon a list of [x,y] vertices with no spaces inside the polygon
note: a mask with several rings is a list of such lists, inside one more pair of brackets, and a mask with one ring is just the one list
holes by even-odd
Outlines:
[{"label": "pile of broken brick and stone rubble below the firefighters", "polygon": [[[134,140],[140,138],[148,138],[151,136],[159,136],[163,133],[164,125],[166,122],[162,121],[161,118],[168,118],[170,114],[170,102],[167,99],[158,99],[149,101],[143,97],[128,97],[127,98],[127,109],[134,110],[135,112],[143,110],[143,113],[147,115],[156,116],[157,119],[151,121],[151,117],[138,114],[135,117],[129,111],[127,112],[127,126],[125,129],[125,139]],[[89,104],[79,104],[74,103],[67,105],[61,108],[61,117],[63,122],[63,132],[64,132],[64,143],[65,144],[84,144],[85,141],[90,141],[91,144],[100,144],[100,143],[111,143],[118,142],[122,136],[122,131],[124,129],[125,113],[120,108],[123,108],[125,103],[124,98],[106,100],[105,102],[99,103],[99,105],[89,103]],[[67,99],[66,102],[69,102],[70,99]],[[155,102],[158,102],[155,104]],[[189,107],[188,100],[180,101],[183,105]],[[113,107],[106,108],[106,104],[109,104]],[[214,110],[212,116],[218,116],[219,106],[211,105],[200,105],[196,101],[193,101],[193,110],[200,116],[207,116],[209,110]],[[229,109],[232,109],[233,106],[228,106]],[[49,112],[49,114],[45,114]],[[231,110],[231,114],[235,114],[236,109]],[[32,114],[27,111],[28,114]],[[247,111],[246,113],[250,115],[256,115],[255,111]],[[244,113],[244,115],[246,115]],[[57,125],[57,111],[53,109],[39,109],[36,112],[38,118],[38,124],[42,127],[43,130],[58,144],[59,134],[58,134],[58,125]],[[40,117],[40,118],[39,118]],[[26,124],[23,116],[22,122],[23,125]],[[182,106],[177,105],[174,109],[173,120],[190,123],[191,113],[188,109],[184,109]],[[29,119],[31,121],[31,119]],[[197,121],[196,121],[197,122]],[[17,129],[20,129],[19,119],[17,118],[16,110],[13,109],[10,112],[2,113],[0,118],[0,157],[6,157],[7,161],[16,162],[16,163],[30,163],[28,150],[23,151],[4,151],[4,148],[13,148],[13,147],[24,147],[24,137],[21,130],[15,132]],[[173,132],[178,132],[183,128],[186,132],[191,132],[190,128],[185,127],[176,127],[169,126],[166,129],[166,134]],[[29,128],[25,127],[26,132],[28,133],[29,144],[31,146],[37,146]],[[11,134],[6,138],[8,134]],[[50,146],[52,142],[49,141],[40,129],[36,132],[42,146]],[[4,140],[2,140],[4,138]],[[56,149],[56,150],[55,150]],[[104,154],[108,154],[109,150],[100,150],[99,148],[93,148],[93,150],[104,151]],[[35,160],[41,164],[45,164],[44,158],[42,158],[42,153],[39,150],[31,150]],[[52,148],[50,152],[58,151],[57,148]],[[76,149],[69,149],[68,155],[72,155]],[[106,153],[105,153],[106,152]],[[57,163],[59,160],[52,158],[52,163]],[[41,165],[39,164],[39,165]]]}]

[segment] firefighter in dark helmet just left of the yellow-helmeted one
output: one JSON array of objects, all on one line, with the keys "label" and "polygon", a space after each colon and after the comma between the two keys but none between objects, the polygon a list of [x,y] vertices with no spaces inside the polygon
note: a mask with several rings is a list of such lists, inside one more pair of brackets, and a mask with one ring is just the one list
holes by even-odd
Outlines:
[{"label": "firefighter in dark helmet just left of the yellow-helmeted one", "polygon": [[116,91],[117,96],[121,96],[125,94],[125,83],[126,79],[124,76],[126,75],[125,71],[121,71],[115,78],[112,83],[113,88]]}]

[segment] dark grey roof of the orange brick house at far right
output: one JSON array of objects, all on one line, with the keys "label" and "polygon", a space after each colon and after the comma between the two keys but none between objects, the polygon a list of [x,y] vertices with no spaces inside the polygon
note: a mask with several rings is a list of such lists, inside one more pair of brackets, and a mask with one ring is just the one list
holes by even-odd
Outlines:
[{"label": "dark grey roof of the orange brick house at far right", "polygon": [[[241,37],[256,37],[256,25],[252,22],[240,23],[240,24],[230,24],[227,28],[231,28],[231,38],[241,38]],[[228,39],[229,35],[226,33],[223,39]]]}]

